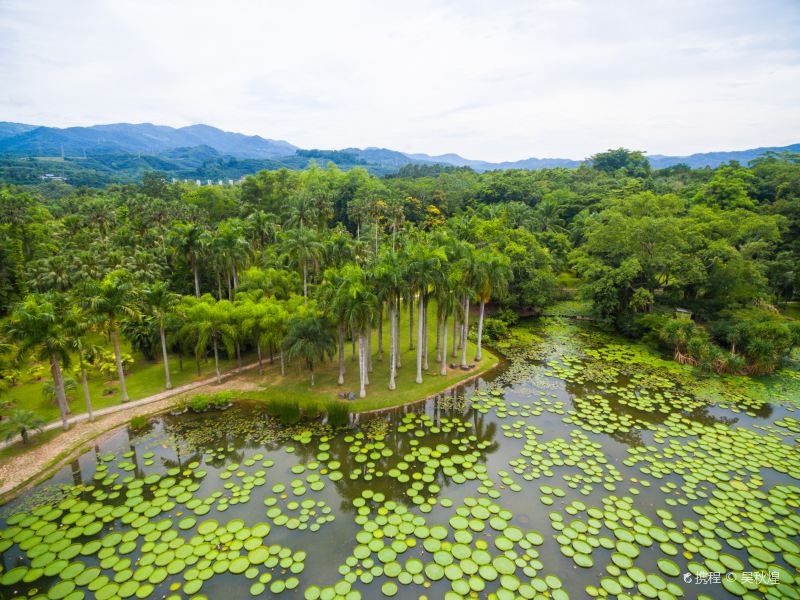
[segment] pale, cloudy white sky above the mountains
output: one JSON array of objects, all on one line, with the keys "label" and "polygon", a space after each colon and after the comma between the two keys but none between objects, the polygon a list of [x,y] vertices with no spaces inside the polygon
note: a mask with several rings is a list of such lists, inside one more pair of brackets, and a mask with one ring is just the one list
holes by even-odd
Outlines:
[{"label": "pale, cloudy white sky above the mountains", "polygon": [[491,161],[800,142],[799,0],[0,0],[0,120]]}]

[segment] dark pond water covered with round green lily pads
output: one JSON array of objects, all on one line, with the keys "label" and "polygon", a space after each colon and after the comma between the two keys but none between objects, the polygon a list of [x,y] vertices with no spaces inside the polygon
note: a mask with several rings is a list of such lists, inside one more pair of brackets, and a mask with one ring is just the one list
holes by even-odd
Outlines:
[{"label": "dark pond water covered with round green lily pads", "polygon": [[3,507],[3,598],[800,598],[797,371],[557,319],[435,401],[111,435]]}]

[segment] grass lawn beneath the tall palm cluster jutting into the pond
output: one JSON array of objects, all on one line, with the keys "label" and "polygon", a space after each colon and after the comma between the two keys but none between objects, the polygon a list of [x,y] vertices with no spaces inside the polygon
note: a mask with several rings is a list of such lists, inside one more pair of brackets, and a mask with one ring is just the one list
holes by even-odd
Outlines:
[{"label": "grass lawn beneath the tall palm cluster jutting into the pond", "polygon": [[[422,400],[427,396],[435,394],[445,388],[452,386],[459,381],[475,375],[477,372],[491,367],[498,362],[498,358],[484,346],[482,349],[483,357],[476,363],[475,368],[469,371],[461,369],[450,369],[450,363],[460,363],[461,353],[458,358],[450,357],[452,345],[452,320],[449,325],[448,336],[448,374],[439,375],[440,364],[436,362],[436,317],[433,303],[429,307],[428,317],[428,369],[423,371],[423,382],[416,383],[416,350],[409,350],[408,347],[408,314],[404,311],[400,324],[401,348],[400,355],[402,367],[397,371],[395,382],[396,389],[389,390],[389,327],[384,323],[384,357],[382,361],[377,358],[378,342],[377,330],[372,330],[372,366],[373,372],[369,374],[369,385],[367,386],[366,398],[358,398],[358,362],[351,356],[351,344],[348,341],[345,346],[345,382],[338,385],[339,361],[338,354],[333,360],[323,365],[316,365],[315,385],[311,387],[308,370],[299,364],[287,364],[286,375],[281,377],[280,366],[277,357],[273,365],[266,364],[263,375],[256,371],[251,371],[245,375],[237,377],[237,381],[244,382],[244,387],[252,389],[236,392],[236,397],[247,400],[289,400],[296,401],[309,412],[315,409],[324,408],[329,402],[344,402],[351,411],[374,410],[390,406],[398,406]],[[472,320],[472,318],[471,318]],[[416,326],[415,326],[416,339]],[[475,344],[469,342],[467,347],[467,362],[473,363],[475,358]],[[356,399],[344,401],[338,399],[339,392],[354,392]]]}]

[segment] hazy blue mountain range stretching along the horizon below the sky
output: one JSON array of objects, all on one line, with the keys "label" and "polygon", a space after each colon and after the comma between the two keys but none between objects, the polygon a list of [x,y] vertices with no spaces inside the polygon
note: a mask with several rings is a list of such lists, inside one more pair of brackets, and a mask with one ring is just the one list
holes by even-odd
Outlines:
[{"label": "hazy blue mountain range stretching along the horizon below the sky", "polygon": [[[730,160],[747,163],[767,151],[800,152],[800,144],[689,156],[654,154],[648,158],[654,168],[680,163],[692,168],[713,168]],[[61,167],[60,159],[64,159]],[[115,123],[58,128],[0,122],[0,180],[38,179],[42,168],[61,172],[66,169],[64,163],[71,163],[67,169],[70,179],[74,179],[76,172],[90,171],[103,182],[127,180],[154,169],[181,178],[238,179],[260,169],[305,168],[312,160],[323,164],[332,161],[343,169],[363,166],[379,175],[413,164],[469,167],[482,172],[573,168],[583,162],[569,158],[526,158],[498,163],[471,160],[458,154],[432,156],[375,147],[301,149],[284,140],[227,132],[203,124],[174,128],[152,123]],[[10,177],[10,173],[14,176]]]}]

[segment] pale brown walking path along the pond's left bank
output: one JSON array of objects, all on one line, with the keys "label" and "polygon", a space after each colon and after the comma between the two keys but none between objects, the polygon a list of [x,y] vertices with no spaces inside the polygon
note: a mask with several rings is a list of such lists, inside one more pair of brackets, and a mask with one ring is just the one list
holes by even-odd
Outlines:
[{"label": "pale brown walking path along the pond's left bank", "polygon": [[[258,366],[258,363],[246,365],[222,374],[223,378],[238,375],[249,369]],[[69,419],[71,425],[68,431],[57,436],[53,440],[42,444],[28,452],[15,456],[14,458],[0,464],[0,498],[9,492],[24,485],[33,478],[41,478],[47,472],[52,471],[59,462],[67,458],[84,444],[90,442],[98,435],[128,423],[133,417],[141,414],[153,414],[168,409],[175,396],[195,390],[197,388],[216,383],[216,377],[209,377],[200,381],[187,383],[180,387],[165,390],[152,396],[147,396],[140,400],[126,402],[117,406],[110,406],[95,411],[94,420],[89,421],[87,414],[75,415]],[[146,409],[142,410],[145,406]],[[44,429],[60,429],[61,421],[48,423]],[[10,442],[13,443],[13,442]],[[10,443],[4,443],[0,447],[6,447]]]}]

